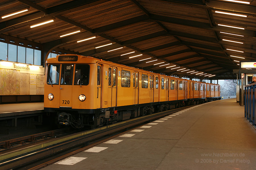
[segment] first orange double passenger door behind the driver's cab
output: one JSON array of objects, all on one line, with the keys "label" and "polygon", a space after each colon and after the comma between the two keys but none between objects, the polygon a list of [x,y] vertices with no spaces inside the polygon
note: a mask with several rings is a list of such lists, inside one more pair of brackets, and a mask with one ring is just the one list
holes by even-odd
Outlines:
[{"label": "first orange double passenger door behind the driver's cab", "polygon": [[111,94],[111,107],[116,106],[116,94],[117,94],[117,88],[116,88],[116,72],[117,67],[110,66],[108,68],[108,88]]}]

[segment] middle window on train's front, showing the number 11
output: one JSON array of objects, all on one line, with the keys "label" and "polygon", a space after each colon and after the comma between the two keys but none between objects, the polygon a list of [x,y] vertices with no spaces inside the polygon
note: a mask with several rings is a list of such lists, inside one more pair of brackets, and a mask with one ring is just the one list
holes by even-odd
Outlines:
[{"label": "middle window on train's front, showing the number 11", "polygon": [[61,84],[72,85],[72,80],[73,80],[73,64],[62,64]]}]

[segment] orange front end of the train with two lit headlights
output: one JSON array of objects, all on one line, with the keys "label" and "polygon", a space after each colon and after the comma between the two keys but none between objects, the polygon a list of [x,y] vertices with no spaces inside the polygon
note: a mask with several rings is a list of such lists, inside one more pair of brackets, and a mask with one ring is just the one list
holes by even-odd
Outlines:
[{"label": "orange front end of the train with two lit headlights", "polygon": [[97,60],[71,54],[47,59],[44,110],[56,114],[57,124],[73,128],[94,125]]}]

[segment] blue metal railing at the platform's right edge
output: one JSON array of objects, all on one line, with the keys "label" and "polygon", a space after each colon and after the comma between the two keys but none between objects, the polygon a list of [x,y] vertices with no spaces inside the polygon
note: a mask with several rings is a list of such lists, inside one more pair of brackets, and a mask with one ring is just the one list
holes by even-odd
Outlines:
[{"label": "blue metal railing at the platform's right edge", "polygon": [[244,88],[244,117],[255,125],[256,83],[248,84]]}]

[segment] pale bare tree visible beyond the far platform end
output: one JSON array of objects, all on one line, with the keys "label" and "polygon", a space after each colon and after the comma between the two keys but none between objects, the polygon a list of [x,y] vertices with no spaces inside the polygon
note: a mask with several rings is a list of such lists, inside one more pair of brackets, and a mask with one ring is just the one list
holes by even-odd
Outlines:
[{"label": "pale bare tree visible beyond the far platform end", "polygon": [[224,80],[224,84],[220,87],[221,96],[236,95],[237,80]]}]

